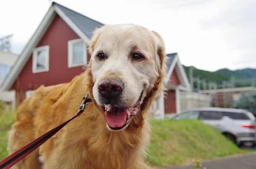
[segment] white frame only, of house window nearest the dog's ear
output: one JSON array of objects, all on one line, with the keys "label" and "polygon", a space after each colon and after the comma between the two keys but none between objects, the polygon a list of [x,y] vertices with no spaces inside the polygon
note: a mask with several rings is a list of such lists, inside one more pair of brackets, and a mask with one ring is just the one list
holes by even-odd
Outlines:
[{"label": "white frame only, of house window nearest the dog's ear", "polygon": [[[83,44],[83,60],[82,62],[73,62],[73,45],[75,43],[81,43]],[[82,39],[74,39],[68,41],[68,68],[83,66],[87,64],[87,51],[86,51],[86,44],[82,41]]]}]

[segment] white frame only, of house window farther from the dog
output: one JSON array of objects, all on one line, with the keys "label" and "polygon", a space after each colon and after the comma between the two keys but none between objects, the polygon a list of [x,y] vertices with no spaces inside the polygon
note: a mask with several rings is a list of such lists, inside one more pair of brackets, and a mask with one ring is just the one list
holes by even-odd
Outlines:
[{"label": "white frame only, of house window farther from the dog", "polygon": [[[35,48],[33,51],[33,66],[32,66],[32,72],[33,73],[39,73],[39,72],[48,72],[49,71],[49,49],[50,46],[41,46],[38,48]],[[37,55],[38,51],[44,51],[46,50],[46,67],[45,68],[37,68]]]}]

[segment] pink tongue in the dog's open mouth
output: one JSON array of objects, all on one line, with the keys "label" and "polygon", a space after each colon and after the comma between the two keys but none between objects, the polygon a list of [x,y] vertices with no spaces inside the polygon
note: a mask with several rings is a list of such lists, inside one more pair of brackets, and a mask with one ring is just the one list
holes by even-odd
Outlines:
[{"label": "pink tongue in the dog's open mouth", "polygon": [[127,109],[119,109],[112,105],[105,106],[105,116],[109,127],[122,127],[126,123],[126,119],[130,117],[130,112]]}]

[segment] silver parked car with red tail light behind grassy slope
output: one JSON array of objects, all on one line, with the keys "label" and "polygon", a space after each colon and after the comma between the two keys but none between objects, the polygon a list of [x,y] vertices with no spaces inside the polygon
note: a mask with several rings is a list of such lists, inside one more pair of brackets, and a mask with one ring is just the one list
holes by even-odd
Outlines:
[{"label": "silver parked car with red tail light behind grassy slope", "polygon": [[256,121],[247,110],[228,108],[196,108],[175,113],[171,119],[202,120],[203,123],[216,127],[234,143],[245,147],[256,145]]}]

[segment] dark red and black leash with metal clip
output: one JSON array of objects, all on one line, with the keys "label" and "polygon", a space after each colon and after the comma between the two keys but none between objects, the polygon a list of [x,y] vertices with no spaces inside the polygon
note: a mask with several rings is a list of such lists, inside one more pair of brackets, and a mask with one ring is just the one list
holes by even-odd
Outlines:
[{"label": "dark red and black leash with metal clip", "polygon": [[19,150],[17,150],[16,152],[13,152],[8,157],[6,157],[2,161],[0,161],[0,169],[9,169],[13,165],[15,165],[18,161],[21,161],[22,159],[24,159],[29,153],[36,150],[40,145],[45,143],[49,138],[51,138],[53,135],[55,135],[60,129],[62,129],[62,127],[64,127],[71,120],[73,120],[77,116],[81,115],[83,110],[85,109],[86,102],[91,101],[91,99],[88,98],[88,94],[86,95],[86,97],[83,97],[82,99],[83,99],[83,101],[82,101],[82,104],[80,105],[78,112],[72,118],[65,121],[61,125],[51,129],[50,131],[46,132],[45,134],[39,136],[35,140],[31,141],[27,145],[24,145]]}]

